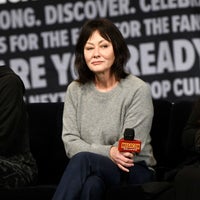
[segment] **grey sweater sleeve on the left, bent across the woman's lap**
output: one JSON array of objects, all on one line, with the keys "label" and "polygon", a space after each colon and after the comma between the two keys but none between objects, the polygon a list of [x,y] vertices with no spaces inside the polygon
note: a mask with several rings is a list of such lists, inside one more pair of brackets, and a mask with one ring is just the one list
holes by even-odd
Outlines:
[{"label": "grey sweater sleeve on the left, bent across the woman's lap", "polygon": [[71,158],[79,152],[87,151],[109,156],[109,149],[111,145],[94,143],[89,144],[81,137],[81,133],[77,124],[77,119],[79,118],[79,113],[77,111],[77,101],[80,92],[79,89],[80,88],[77,83],[72,83],[68,86],[65,95],[62,140],[66,154],[69,158]]}]

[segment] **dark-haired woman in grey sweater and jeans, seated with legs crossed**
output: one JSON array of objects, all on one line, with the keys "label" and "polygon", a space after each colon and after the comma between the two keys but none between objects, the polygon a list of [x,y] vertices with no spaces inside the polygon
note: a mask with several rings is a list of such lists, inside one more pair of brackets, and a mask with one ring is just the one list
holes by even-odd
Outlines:
[{"label": "dark-haired woman in grey sweater and jeans, seated with legs crossed", "polygon": [[[131,184],[153,178],[152,99],[148,85],[124,71],[130,53],[109,20],[84,24],[75,56],[79,76],[66,92],[62,132],[71,159],[53,199],[98,200],[108,186],[120,184],[122,172]],[[126,128],[141,140],[139,154],[119,152]]]}]

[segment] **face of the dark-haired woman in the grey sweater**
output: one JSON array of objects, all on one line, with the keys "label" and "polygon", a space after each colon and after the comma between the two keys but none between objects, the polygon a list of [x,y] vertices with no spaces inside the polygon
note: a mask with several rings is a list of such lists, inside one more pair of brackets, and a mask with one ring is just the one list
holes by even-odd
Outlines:
[{"label": "face of the dark-haired woman in the grey sweater", "polygon": [[85,44],[84,58],[89,69],[95,74],[109,73],[115,60],[113,45],[95,31]]}]

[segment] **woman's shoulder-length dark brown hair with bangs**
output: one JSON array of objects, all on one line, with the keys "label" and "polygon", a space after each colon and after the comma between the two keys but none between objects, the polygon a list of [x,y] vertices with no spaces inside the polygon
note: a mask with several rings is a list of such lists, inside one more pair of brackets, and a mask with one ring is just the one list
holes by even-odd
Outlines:
[{"label": "woman's shoulder-length dark brown hair with bangs", "polygon": [[124,70],[124,66],[130,58],[130,52],[121,32],[108,19],[95,19],[89,20],[83,25],[76,44],[75,68],[79,76],[77,81],[84,84],[94,80],[94,73],[90,71],[84,59],[84,47],[87,40],[96,30],[113,45],[115,61],[111,67],[111,73],[115,75],[118,81],[121,78],[125,78],[127,73]]}]

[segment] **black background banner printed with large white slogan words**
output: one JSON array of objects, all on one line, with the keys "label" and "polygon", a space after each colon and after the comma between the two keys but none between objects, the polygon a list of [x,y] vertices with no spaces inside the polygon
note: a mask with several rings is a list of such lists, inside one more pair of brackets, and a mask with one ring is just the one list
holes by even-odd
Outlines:
[{"label": "black background banner printed with large white slogan words", "polygon": [[154,99],[199,96],[199,0],[4,0],[0,63],[22,78],[28,103],[64,100],[76,78],[79,30],[99,17],[118,26],[131,52],[126,68],[149,83]]}]

